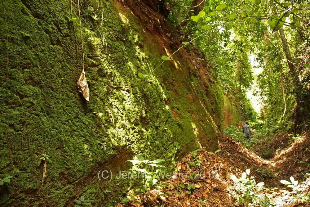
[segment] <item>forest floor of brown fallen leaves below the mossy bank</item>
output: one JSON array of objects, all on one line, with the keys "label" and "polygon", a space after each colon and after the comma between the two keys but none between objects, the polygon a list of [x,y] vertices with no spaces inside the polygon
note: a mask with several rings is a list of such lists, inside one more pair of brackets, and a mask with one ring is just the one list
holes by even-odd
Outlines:
[{"label": "forest floor of brown fallen leaves below the mossy bank", "polygon": [[[156,188],[145,194],[146,206],[232,206],[238,203],[236,183],[231,179],[238,178],[246,169],[256,183],[264,182],[265,193],[270,193],[271,203],[276,206],[309,206],[292,199],[293,194],[283,195],[279,190],[286,186],[280,180],[290,180],[293,176],[299,182],[305,181],[310,159],[310,137],[305,134],[299,142],[291,144],[281,154],[265,160],[253,151],[246,149],[240,142],[223,135],[219,140],[220,151],[217,153],[199,150],[187,155],[175,167],[175,173],[166,181],[165,187]],[[196,175],[196,176],[195,176]],[[309,176],[308,176],[309,177]],[[277,187],[277,190],[268,190]],[[299,186],[301,194],[310,190],[310,179]],[[273,194],[271,194],[273,192]],[[136,200],[142,200],[137,196]],[[240,206],[247,206],[244,200]],[[130,201],[126,205],[142,206],[139,201]],[[253,206],[253,205],[252,205]],[[254,205],[256,206],[256,205]],[[258,205],[259,206],[259,205]]]}]

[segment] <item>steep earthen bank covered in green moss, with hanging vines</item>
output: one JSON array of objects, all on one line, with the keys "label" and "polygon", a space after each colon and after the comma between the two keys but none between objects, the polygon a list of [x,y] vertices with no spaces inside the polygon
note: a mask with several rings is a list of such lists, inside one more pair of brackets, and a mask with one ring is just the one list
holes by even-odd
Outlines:
[{"label": "steep earthen bank covered in green moss, with hanging vines", "polygon": [[130,9],[111,0],[80,7],[90,103],[77,88],[77,1],[73,18],[69,0],[1,2],[0,178],[14,177],[0,187],[0,205],[61,206],[81,195],[116,203],[129,181],[99,181],[99,170],[127,170],[137,154],[165,159],[171,170],[189,151],[217,149],[225,110],[239,116],[216,80],[194,75],[184,50],[154,70],[175,48]]}]

